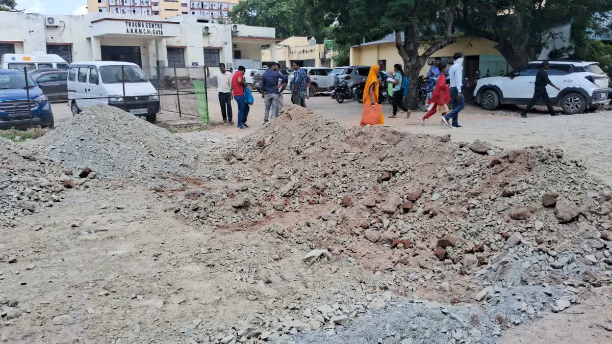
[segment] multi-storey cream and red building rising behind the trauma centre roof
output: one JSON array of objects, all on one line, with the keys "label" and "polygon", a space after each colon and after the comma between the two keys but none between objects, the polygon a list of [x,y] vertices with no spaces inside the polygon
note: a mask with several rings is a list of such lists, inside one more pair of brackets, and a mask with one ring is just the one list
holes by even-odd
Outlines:
[{"label": "multi-storey cream and red building rising behind the trauma centre roof", "polygon": [[88,12],[110,12],[170,18],[175,15],[195,15],[211,23],[227,21],[229,12],[241,0],[88,0]]}]

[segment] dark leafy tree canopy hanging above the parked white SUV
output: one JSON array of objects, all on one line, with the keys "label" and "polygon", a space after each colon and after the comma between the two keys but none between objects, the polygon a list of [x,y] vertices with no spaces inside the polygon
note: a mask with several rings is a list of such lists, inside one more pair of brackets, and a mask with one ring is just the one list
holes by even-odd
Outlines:
[{"label": "dark leafy tree canopy hanging above the parked white SUV", "polygon": [[463,0],[457,22],[467,36],[496,42],[499,53],[518,68],[537,60],[550,39],[561,37],[555,28],[586,23],[609,10],[612,0]]}]

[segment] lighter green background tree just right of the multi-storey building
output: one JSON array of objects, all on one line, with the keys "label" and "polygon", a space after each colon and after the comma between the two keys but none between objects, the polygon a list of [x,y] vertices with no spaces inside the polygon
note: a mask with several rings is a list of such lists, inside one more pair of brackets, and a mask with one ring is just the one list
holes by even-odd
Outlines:
[{"label": "lighter green background tree just right of the multi-storey building", "polygon": [[314,36],[322,42],[326,38],[320,21],[308,21],[300,0],[244,0],[230,12],[230,18],[233,23],[275,28],[281,39]]}]

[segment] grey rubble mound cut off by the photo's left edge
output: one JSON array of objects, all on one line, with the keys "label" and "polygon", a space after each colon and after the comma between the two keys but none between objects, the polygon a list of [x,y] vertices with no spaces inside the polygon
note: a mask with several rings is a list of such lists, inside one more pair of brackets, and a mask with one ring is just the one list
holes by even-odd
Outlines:
[{"label": "grey rubble mound cut off by the photo's left edge", "polygon": [[51,160],[0,138],[0,225],[53,206],[64,190],[61,168]]}]

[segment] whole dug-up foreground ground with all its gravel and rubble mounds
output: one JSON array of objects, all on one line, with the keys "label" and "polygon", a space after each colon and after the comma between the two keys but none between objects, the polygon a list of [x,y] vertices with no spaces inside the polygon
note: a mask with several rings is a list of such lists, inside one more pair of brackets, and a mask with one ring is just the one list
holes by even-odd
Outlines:
[{"label": "whole dug-up foreground ground with all its gravel and rubble mounds", "polygon": [[422,130],[286,107],[173,135],[95,107],[0,140],[0,341],[609,343],[601,173]]}]

